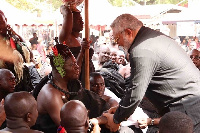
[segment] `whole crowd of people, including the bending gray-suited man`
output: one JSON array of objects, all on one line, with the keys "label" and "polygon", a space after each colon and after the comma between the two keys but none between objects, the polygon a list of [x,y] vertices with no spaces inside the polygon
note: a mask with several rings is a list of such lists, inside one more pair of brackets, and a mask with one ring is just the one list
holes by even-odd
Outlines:
[{"label": "whole crowd of people, including the bending gray-suited man", "polygon": [[109,41],[80,40],[80,11],[60,12],[55,43],[44,46],[33,33],[28,47],[0,10],[0,133],[200,132],[197,37],[178,44],[122,14]]}]

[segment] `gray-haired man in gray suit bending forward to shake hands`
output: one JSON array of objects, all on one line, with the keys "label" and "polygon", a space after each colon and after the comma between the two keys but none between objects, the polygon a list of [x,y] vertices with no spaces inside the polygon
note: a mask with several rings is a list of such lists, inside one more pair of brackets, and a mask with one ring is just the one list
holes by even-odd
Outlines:
[{"label": "gray-haired man in gray suit bending forward to shake hands", "polygon": [[104,113],[107,126],[116,131],[145,95],[161,116],[183,112],[192,118],[194,131],[200,132],[200,73],[185,51],[130,14],[118,16],[111,28],[115,42],[130,54],[131,76],[119,107]]}]

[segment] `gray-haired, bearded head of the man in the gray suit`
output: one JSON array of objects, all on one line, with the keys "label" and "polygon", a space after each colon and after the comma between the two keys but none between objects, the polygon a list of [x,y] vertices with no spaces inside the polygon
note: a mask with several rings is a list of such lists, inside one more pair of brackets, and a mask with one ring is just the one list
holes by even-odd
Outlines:
[{"label": "gray-haired, bearded head of the man in the gray suit", "polygon": [[143,23],[131,14],[118,16],[110,26],[113,31],[113,41],[128,50],[142,26]]}]

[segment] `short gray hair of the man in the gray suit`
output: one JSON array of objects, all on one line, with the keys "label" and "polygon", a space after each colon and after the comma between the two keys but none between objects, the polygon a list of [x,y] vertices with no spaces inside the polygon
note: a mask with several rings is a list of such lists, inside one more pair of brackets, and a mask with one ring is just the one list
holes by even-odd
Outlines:
[{"label": "short gray hair of the man in the gray suit", "polygon": [[125,29],[136,30],[140,29],[143,23],[131,14],[122,14],[118,16],[110,25],[116,32],[121,32]]}]

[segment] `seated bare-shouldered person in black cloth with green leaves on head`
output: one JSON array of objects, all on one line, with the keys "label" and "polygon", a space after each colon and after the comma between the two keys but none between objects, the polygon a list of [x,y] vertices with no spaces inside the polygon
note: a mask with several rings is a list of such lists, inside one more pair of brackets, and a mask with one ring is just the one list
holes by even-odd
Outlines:
[{"label": "seated bare-shouldered person in black cloth with green leaves on head", "polygon": [[79,66],[66,45],[55,45],[49,58],[52,72],[33,91],[39,113],[34,129],[55,133],[60,126],[60,110],[70,100],[82,101],[90,110],[90,118],[99,117],[108,109],[103,99],[81,86]]}]

